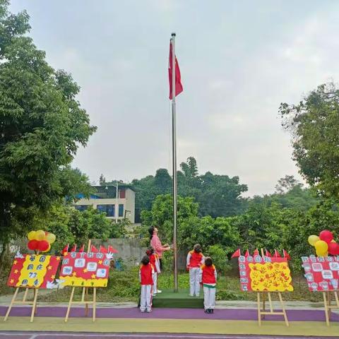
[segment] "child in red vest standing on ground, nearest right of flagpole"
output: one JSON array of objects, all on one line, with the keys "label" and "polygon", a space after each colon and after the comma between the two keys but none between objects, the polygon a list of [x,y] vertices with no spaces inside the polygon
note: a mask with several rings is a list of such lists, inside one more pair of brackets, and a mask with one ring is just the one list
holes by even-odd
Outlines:
[{"label": "child in red vest standing on ground, nearest right of flagpole", "polygon": [[214,313],[217,270],[209,256],[200,268],[199,281],[203,284],[203,307],[205,313]]}]

